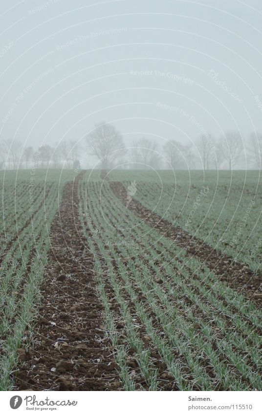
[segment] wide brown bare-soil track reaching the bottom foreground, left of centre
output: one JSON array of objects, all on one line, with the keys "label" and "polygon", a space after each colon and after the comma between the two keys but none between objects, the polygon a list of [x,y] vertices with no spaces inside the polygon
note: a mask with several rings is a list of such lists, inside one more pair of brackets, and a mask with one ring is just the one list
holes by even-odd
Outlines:
[{"label": "wide brown bare-soil track reaching the bottom foreground, left of centre", "polygon": [[82,171],[65,185],[51,226],[39,316],[29,348],[18,350],[14,390],[106,391],[121,387],[114,349],[104,332],[93,259],[85,239],[81,240],[77,190],[84,174]]}]

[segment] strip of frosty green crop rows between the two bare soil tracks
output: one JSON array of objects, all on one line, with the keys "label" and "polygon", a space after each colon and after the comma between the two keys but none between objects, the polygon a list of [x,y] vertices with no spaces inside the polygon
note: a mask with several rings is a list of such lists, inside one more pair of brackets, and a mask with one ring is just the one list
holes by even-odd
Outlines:
[{"label": "strip of frosty green crop rows between the two bare soil tracks", "polygon": [[[141,325],[145,327],[153,347],[157,348],[168,371],[173,374],[177,387],[183,390],[191,390],[194,387],[203,390],[215,389],[218,387],[218,384],[223,389],[248,390],[259,387],[260,378],[256,368],[258,363],[258,354],[256,353],[258,351],[258,336],[254,334],[253,328],[243,319],[244,327],[247,331],[249,330],[248,337],[246,339],[244,336],[241,336],[240,330],[240,341],[234,344],[236,332],[233,322],[230,327],[231,320],[236,318],[234,312],[231,310],[230,324],[228,324],[228,320],[219,316],[219,313],[222,313],[222,311],[216,308],[217,306],[223,307],[224,303],[218,301],[215,297],[216,304],[214,304],[213,296],[209,295],[208,298],[210,288],[202,287],[203,281],[205,282],[206,280],[211,281],[210,284],[212,284],[210,271],[206,269],[204,278],[200,282],[199,278],[202,274],[195,278],[192,270],[191,275],[181,265],[185,258],[183,258],[183,255],[181,256],[181,251],[177,247],[174,247],[173,257],[171,253],[166,256],[167,251],[163,246],[163,241],[166,244],[170,244],[170,241],[162,238],[157,243],[152,244],[152,240],[160,239],[160,235],[157,235],[155,230],[149,229],[145,224],[141,224],[139,227],[132,227],[137,224],[137,218],[127,211],[113,194],[110,194],[107,183],[103,184],[102,194],[103,192],[105,193],[103,204],[106,204],[106,199],[108,200],[107,205],[103,205],[103,211],[101,211],[100,206],[99,185],[89,185],[87,195],[84,190],[84,184],[82,186],[80,196],[85,200],[87,197],[87,206],[81,206],[80,217],[83,221],[83,228],[86,229],[88,227],[88,232],[91,231],[93,233],[93,239],[90,239],[90,235],[88,235],[87,240],[89,244],[92,244],[90,249],[92,249],[98,263],[96,271],[100,292],[105,291],[105,285],[103,285],[105,269],[101,268],[101,262],[106,262],[108,269],[107,278],[110,278],[110,284],[113,287],[117,304],[119,304],[121,309],[123,304],[128,304],[125,300],[126,295],[132,299]],[[85,217],[83,217],[83,210]],[[88,223],[85,221],[87,218]],[[130,232],[116,231],[119,218],[121,220],[125,218],[127,227],[132,227]],[[100,229],[99,235],[97,235],[97,229]],[[155,239],[152,238],[152,231],[154,232]],[[150,236],[148,236],[148,233],[150,233]],[[125,246],[122,243],[123,238],[131,240],[132,244]],[[139,257],[141,250],[143,260]],[[161,254],[164,253],[164,258],[161,258],[161,267],[153,268],[152,264],[159,257],[159,252]],[[176,264],[173,262],[174,256],[179,259],[178,261],[176,260]],[[119,258],[122,259],[119,260]],[[123,261],[125,258],[126,260]],[[114,266],[113,263],[115,264]],[[164,269],[161,271],[162,266]],[[196,269],[194,268],[196,262],[192,263],[192,266],[192,269]],[[98,272],[100,269],[101,271]],[[177,270],[179,270],[180,275]],[[161,286],[155,282],[154,275],[162,281]],[[112,278],[113,280],[111,280]],[[191,278],[194,278],[194,281],[196,281],[196,291],[191,289]],[[215,276],[212,276],[212,278],[214,282]],[[187,281],[186,284],[185,281]],[[205,301],[201,301],[201,295],[196,294],[197,289],[200,290],[200,288],[202,288],[201,295]],[[217,288],[221,296],[223,291],[220,292],[219,288],[223,289],[224,287]],[[137,295],[137,290],[140,295]],[[119,292],[124,292],[125,295],[119,297]],[[227,312],[229,311],[228,300],[233,301],[231,294],[231,291],[229,291],[227,298],[225,298],[226,305],[224,307]],[[146,300],[141,300],[143,298]],[[186,298],[189,298],[194,306],[188,306],[185,301]],[[206,299],[208,304],[206,304]],[[239,304],[241,304],[241,301],[242,299],[239,299]],[[196,305],[198,309],[200,306],[202,307],[200,308],[203,316],[195,315]],[[248,305],[245,305],[245,307],[245,311],[248,311]],[[152,323],[152,316],[148,309],[153,312],[157,320],[157,324],[160,327],[158,330],[155,329],[155,325]],[[211,320],[212,316],[214,316],[214,310],[217,310],[219,316],[217,319],[215,318],[215,322],[212,321],[214,317]],[[251,307],[249,311],[253,317],[253,308]],[[109,315],[107,313],[107,316]],[[225,314],[225,316],[228,315]],[[241,321],[241,311],[237,316]],[[257,321],[256,318],[255,321]],[[199,327],[200,330],[196,332],[194,327]],[[161,330],[164,333],[164,338],[159,334]],[[221,336],[225,335],[225,338],[220,336],[219,339],[218,332]],[[137,333],[137,336],[139,340],[139,333]],[[249,340],[252,340],[253,346],[249,345]],[[214,343],[217,346],[215,350]],[[236,346],[239,348],[238,351],[235,350]],[[122,352],[123,346],[121,344],[119,348]],[[175,357],[174,348],[178,349],[179,355],[181,355],[179,359]],[[136,349],[139,353],[139,346]],[[240,349],[242,354],[240,354]],[[243,358],[244,353],[246,353],[248,358],[253,353],[251,364],[248,364],[247,358]],[[203,359],[209,362],[207,366],[209,366],[209,369],[212,368],[210,371],[213,371],[215,378],[209,376],[206,372],[201,363]],[[241,359],[242,364],[239,365],[238,363]],[[188,371],[190,371],[190,375]],[[153,379],[153,375],[151,379]]]}]

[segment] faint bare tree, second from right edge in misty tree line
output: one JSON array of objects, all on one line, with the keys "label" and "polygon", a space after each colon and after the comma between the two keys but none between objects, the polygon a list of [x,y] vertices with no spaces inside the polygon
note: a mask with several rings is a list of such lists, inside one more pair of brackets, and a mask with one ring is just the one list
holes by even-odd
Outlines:
[{"label": "faint bare tree, second from right edge in misty tree line", "polygon": [[217,150],[218,153],[221,153],[224,160],[228,162],[229,170],[232,170],[239,161],[243,150],[240,133],[237,131],[226,132],[224,137],[220,137]]}]

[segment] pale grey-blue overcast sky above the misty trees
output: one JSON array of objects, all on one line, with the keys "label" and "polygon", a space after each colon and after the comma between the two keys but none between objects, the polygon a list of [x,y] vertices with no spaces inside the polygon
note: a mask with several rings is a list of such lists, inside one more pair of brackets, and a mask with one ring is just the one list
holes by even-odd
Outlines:
[{"label": "pale grey-blue overcast sky above the misty trees", "polygon": [[260,0],[2,2],[0,137],[262,131]]}]

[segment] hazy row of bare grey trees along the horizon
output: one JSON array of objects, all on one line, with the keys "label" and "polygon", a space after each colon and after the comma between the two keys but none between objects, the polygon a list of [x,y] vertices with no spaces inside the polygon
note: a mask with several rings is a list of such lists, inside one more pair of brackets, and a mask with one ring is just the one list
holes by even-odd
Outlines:
[{"label": "hazy row of bare grey trees along the horizon", "polygon": [[54,147],[49,144],[34,150],[18,140],[0,142],[0,168],[95,168],[121,169],[261,169],[262,134],[253,132],[243,140],[238,131],[227,131],[220,137],[201,134],[195,142],[182,144],[175,139],[162,140],[141,137],[125,145],[123,136],[108,123],[100,123],[87,134],[82,144],[63,140]]}]

